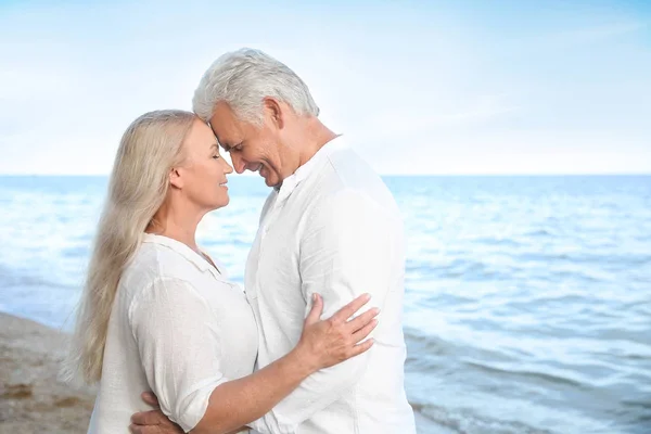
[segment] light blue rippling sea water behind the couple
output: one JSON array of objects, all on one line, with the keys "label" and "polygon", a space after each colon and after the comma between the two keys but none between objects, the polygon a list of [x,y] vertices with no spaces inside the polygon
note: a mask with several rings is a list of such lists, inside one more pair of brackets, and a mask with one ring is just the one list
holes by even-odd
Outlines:
[{"label": "light blue rippling sea water behind the couple", "polygon": [[[0,310],[69,329],[102,177],[0,177]],[[651,433],[651,177],[387,177],[419,433]],[[242,281],[267,195],[199,240]]]}]

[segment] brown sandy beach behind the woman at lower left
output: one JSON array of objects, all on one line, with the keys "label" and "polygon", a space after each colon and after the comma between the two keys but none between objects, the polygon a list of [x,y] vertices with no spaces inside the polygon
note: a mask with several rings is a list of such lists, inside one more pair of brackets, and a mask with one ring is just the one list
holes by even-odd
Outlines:
[{"label": "brown sandy beach behind the woman at lower left", "polygon": [[86,433],[94,394],[56,379],[64,335],[0,312],[0,433]]}]

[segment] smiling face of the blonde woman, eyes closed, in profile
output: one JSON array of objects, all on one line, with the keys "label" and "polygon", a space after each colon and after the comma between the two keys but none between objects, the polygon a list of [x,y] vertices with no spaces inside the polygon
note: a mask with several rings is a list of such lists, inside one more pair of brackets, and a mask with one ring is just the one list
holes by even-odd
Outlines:
[{"label": "smiling face of the blonde woman, eyes closed, in profile", "polygon": [[194,120],[182,144],[183,163],[173,170],[171,183],[201,209],[228,205],[226,175],[233,168],[219,155],[219,145],[210,127]]}]

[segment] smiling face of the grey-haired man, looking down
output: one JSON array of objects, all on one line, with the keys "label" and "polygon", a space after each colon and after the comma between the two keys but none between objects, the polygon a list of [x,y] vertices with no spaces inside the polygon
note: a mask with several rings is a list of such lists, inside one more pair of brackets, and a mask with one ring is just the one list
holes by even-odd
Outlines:
[{"label": "smiling face of the grey-haired man, looking down", "polygon": [[257,171],[269,187],[282,182],[279,131],[267,116],[258,127],[240,120],[227,103],[219,102],[210,127],[221,148],[230,153],[238,174]]}]

